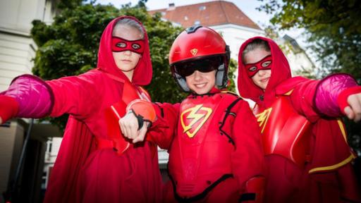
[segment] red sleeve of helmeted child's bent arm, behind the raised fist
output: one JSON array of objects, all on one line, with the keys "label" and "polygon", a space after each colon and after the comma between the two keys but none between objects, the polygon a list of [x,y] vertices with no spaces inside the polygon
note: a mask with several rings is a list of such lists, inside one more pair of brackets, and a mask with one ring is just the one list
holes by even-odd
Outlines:
[{"label": "red sleeve of helmeted child's bent arm, behind the raised fist", "polygon": [[147,140],[155,142],[162,149],[169,149],[178,124],[180,104],[153,104],[157,113],[157,121],[147,133]]}]

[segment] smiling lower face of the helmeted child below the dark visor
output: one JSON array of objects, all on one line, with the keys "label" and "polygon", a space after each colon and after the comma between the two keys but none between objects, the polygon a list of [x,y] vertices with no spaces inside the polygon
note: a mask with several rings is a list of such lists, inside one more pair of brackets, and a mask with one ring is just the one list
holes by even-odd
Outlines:
[{"label": "smiling lower face of the helmeted child below the dark visor", "polygon": [[192,75],[185,77],[190,90],[193,90],[197,94],[207,94],[216,85],[216,70],[212,70],[208,73],[202,73],[199,70],[195,70]]}]

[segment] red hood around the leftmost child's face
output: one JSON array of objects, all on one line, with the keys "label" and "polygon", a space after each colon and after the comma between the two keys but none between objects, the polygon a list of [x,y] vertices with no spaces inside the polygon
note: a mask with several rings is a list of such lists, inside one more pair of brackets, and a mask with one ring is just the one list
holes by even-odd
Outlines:
[{"label": "red hood around the leftmost child's face", "polygon": [[[123,18],[130,18],[140,23],[137,18],[131,16],[121,16],[115,18],[114,20],[111,20],[111,22],[106,25],[105,30],[102,34],[102,38],[100,39],[97,67],[100,70],[104,70],[106,73],[114,75],[116,78],[128,80],[126,75],[124,75],[124,73],[116,66],[113,54],[111,52],[111,35],[113,33],[114,25],[116,25],[116,22],[118,20],[121,20]],[[140,23],[140,25],[142,25],[142,23]],[[132,81],[134,85],[148,85],[152,80],[152,61],[149,54],[148,36],[143,25],[142,28],[145,33],[145,49],[142,57],[139,59],[137,67],[135,67],[134,70]]]}]

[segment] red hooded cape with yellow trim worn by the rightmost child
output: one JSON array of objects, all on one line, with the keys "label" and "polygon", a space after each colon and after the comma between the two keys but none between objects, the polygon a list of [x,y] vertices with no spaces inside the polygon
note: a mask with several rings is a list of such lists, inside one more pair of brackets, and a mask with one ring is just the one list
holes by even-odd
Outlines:
[{"label": "red hooded cape with yellow trim worn by the rightmost child", "polygon": [[[257,85],[252,82],[252,79],[248,77],[247,70],[242,62],[243,50],[247,44],[255,39],[263,39],[268,42],[271,49],[271,78],[264,91],[257,87]],[[310,140],[311,161],[305,168],[306,177],[310,177],[307,176],[307,174],[312,174],[312,180],[329,182],[328,184],[336,184],[339,185],[340,188],[349,185],[350,187],[348,187],[348,190],[351,192],[349,191],[349,196],[345,196],[348,196],[350,199],[355,199],[357,197],[357,190],[355,190],[355,188],[357,188],[355,186],[355,176],[351,173],[352,171],[348,169],[345,170],[345,168],[350,168],[350,161],[353,160],[355,155],[348,146],[343,123],[336,118],[334,120],[322,118],[317,114],[317,111],[314,110],[315,107],[313,106],[312,101],[318,82],[319,81],[317,80],[309,80],[302,77],[291,78],[290,66],[288,65],[286,56],[279,46],[271,39],[265,37],[253,37],[247,39],[240,47],[238,54],[238,91],[240,92],[240,96],[255,101],[257,108],[260,110],[259,112],[262,112],[271,106],[276,97],[292,91],[289,99],[293,108],[312,123],[312,138]],[[261,99],[262,97],[263,99]],[[328,178],[322,175],[325,172],[329,172],[330,176]],[[338,176],[341,177],[340,179],[342,180],[333,178],[337,177],[332,175],[334,173],[338,173]],[[305,182],[311,180],[310,178],[307,178]],[[313,183],[319,184],[316,182]],[[317,202],[319,201],[319,199],[317,199],[319,198],[319,194],[317,194],[318,190],[310,189],[313,186],[315,185],[303,185],[303,189],[310,190],[310,193],[316,191],[316,194],[309,195],[316,199],[313,199],[314,202]],[[334,193],[336,195],[338,194],[337,192]],[[347,192],[341,191],[341,193]],[[331,199],[334,198],[334,196],[329,195],[328,198]],[[331,200],[338,201],[337,198]]]}]

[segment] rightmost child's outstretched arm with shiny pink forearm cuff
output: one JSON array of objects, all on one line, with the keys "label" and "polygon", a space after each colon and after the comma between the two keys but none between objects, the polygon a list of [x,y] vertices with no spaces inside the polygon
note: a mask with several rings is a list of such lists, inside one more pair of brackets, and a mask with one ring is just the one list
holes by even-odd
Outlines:
[{"label": "rightmost child's outstretched arm with shiny pink forearm cuff", "polygon": [[322,80],[309,80],[295,77],[286,80],[278,88],[278,94],[290,93],[293,107],[309,121],[320,116],[348,116],[360,121],[361,87],[353,77],[345,73],[327,76]]}]

